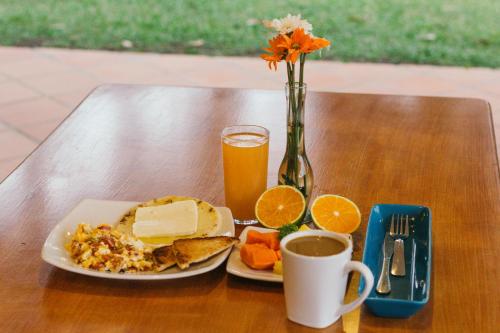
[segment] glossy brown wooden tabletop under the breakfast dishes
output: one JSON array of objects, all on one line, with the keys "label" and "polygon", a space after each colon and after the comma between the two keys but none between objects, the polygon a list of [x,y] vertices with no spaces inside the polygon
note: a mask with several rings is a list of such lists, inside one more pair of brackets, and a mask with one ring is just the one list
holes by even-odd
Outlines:
[{"label": "glossy brown wooden tabletop under the breakfast dishes", "polygon": [[[285,148],[284,98],[282,91],[97,88],[0,185],[0,331],[311,330],[286,319],[280,284],[230,276],[225,265],[186,279],[133,282],[40,259],[51,229],[84,198],[179,194],[223,205],[220,133],[227,125],[270,129],[273,185]],[[378,318],[363,307],[361,332],[498,327],[500,186],[486,102],[311,92],[306,146],[314,195],[341,194],[361,209],[355,257],[374,204],[432,209],[429,303],[409,319]]]}]

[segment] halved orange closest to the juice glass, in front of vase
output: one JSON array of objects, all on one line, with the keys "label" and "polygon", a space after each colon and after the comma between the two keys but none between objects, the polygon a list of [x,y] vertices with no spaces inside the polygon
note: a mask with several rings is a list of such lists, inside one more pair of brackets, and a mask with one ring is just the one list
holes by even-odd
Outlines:
[{"label": "halved orange closest to the juice glass, in front of vase", "polygon": [[255,204],[255,216],[268,228],[297,222],[306,210],[306,200],[295,187],[279,185],[267,189]]}]

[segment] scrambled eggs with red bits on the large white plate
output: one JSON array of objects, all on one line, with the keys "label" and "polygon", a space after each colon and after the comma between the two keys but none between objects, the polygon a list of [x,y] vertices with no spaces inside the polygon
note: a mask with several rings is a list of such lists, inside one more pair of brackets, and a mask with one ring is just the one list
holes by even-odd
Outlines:
[{"label": "scrambled eggs with red bits on the large white plate", "polygon": [[108,224],[95,229],[78,225],[66,249],[84,268],[101,272],[145,272],[156,269],[153,249],[140,240],[113,230]]}]

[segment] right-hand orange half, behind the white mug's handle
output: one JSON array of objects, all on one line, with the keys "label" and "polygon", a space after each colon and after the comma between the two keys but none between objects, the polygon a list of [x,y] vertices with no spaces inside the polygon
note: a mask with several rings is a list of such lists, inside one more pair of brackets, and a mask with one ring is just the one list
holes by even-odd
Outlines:
[{"label": "right-hand orange half, behind the white mug's handle", "polygon": [[311,205],[314,224],[323,230],[350,234],[358,229],[361,213],[351,200],[340,195],[325,194]]}]

